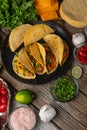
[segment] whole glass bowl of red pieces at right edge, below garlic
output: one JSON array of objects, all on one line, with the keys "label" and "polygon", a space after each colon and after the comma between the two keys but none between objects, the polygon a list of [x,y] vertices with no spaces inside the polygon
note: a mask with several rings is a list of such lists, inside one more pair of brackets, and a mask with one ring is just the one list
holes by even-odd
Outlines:
[{"label": "whole glass bowl of red pieces at right edge, below garlic", "polygon": [[87,65],[87,45],[82,44],[74,49],[74,58],[81,65]]}]

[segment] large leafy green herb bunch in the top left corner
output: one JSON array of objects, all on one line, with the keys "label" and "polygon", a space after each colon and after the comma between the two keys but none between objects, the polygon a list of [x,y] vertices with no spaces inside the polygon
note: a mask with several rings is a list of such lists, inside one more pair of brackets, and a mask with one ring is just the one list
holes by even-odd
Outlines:
[{"label": "large leafy green herb bunch in the top left corner", "polygon": [[36,21],[33,0],[0,0],[0,26],[13,29],[23,23]]}]

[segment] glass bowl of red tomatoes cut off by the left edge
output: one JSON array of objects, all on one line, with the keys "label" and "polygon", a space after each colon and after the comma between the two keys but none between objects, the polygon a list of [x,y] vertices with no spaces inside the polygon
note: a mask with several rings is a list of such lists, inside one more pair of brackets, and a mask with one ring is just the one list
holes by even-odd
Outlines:
[{"label": "glass bowl of red tomatoes cut off by the left edge", "polygon": [[4,79],[0,78],[0,130],[4,130],[10,111],[11,93]]}]

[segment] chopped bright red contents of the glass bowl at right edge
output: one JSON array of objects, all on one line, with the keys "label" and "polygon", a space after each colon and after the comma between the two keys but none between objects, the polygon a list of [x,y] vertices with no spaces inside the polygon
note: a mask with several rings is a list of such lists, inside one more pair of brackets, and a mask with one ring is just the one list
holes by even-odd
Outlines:
[{"label": "chopped bright red contents of the glass bowl at right edge", "polygon": [[87,64],[87,46],[82,46],[78,49],[77,57],[82,64]]}]

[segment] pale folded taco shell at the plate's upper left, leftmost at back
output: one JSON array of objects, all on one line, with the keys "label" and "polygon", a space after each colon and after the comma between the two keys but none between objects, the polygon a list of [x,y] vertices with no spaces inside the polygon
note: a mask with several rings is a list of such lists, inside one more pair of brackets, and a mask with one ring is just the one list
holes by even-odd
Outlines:
[{"label": "pale folded taco shell at the plate's upper left, leftmost at back", "polygon": [[32,27],[30,24],[22,24],[12,30],[9,36],[9,47],[14,52],[22,43],[25,32]]}]

